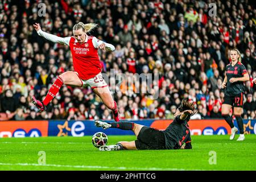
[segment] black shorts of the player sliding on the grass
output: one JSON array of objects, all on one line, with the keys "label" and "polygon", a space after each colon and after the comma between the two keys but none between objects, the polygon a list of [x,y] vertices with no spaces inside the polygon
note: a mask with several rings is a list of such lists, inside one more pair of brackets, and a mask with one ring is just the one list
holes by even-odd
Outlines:
[{"label": "black shorts of the player sliding on the grass", "polygon": [[143,126],[139,131],[135,146],[138,150],[162,150],[166,149],[164,134],[160,130]]}]

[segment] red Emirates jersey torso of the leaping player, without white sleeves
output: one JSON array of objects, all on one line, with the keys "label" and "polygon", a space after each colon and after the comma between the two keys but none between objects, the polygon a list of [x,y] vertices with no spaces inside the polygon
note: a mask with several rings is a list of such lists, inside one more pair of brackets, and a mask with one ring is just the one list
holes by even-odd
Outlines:
[{"label": "red Emirates jersey torso of the leaping player, without white sleeves", "polygon": [[93,36],[88,36],[87,42],[80,44],[74,37],[71,37],[69,47],[73,57],[74,71],[79,73],[82,80],[88,80],[101,72],[98,48],[92,43]]}]

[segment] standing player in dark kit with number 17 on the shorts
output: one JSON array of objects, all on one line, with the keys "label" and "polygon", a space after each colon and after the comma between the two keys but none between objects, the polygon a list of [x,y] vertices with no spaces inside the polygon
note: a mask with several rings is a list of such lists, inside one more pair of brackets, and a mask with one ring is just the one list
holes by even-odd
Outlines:
[{"label": "standing player in dark kit with number 17 on the shorts", "polygon": [[226,88],[221,114],[231,127],[230,140],[233,140],[238,129],[234,126],[229,113],[230,109],[234,107],[233,114],[237,119],[237,125],[240,130],[240,136],[237,141],[242,141],[245,140],[243,119],[241,117],[243,111],[243,82],[250,80],[250,78],[245,66],[241,63],[241,53],[238,49],[230,51],[230,59],[232,62],[226,66],[226,76],[221,86],[222,89]]}]

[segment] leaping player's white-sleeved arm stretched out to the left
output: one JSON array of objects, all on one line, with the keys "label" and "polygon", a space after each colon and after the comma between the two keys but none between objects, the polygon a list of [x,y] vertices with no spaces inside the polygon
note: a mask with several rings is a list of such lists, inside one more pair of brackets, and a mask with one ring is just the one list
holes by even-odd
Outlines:
[{"label": "leaping player's white-sleeved arm stretched out to the left", "polygon": [[54,43],[60,43],[60,44],[65,44],[65,45],[69,46],[69,41],[70,41],[71,37],[60,38],[59,36],[48,34],[47,32],[44,32],[41,29],[39,23],[33,24],[33,27],[35,28],[38,35],[42,36],[43,38],[46,38],[47,40],[54,42]]}]

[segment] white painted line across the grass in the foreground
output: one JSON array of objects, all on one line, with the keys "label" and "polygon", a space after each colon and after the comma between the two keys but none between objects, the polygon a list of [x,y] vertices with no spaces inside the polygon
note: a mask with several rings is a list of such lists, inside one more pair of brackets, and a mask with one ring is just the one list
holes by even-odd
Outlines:
[{"label": "white painted line across the grass in the foreground", "polygon": [[[0,166],[36,166],[36,167],[69,167],[69,168],[94,168],[94,169],[120,169],[120,170],[141,170],[141,171],[185,171],[178,168],[138,168],[138,167],[108,167],[108,166],[71,166],[60,164],[28,164],[28,163],[0,163]],[[199,171],[195,169],[196,171]]]}]

